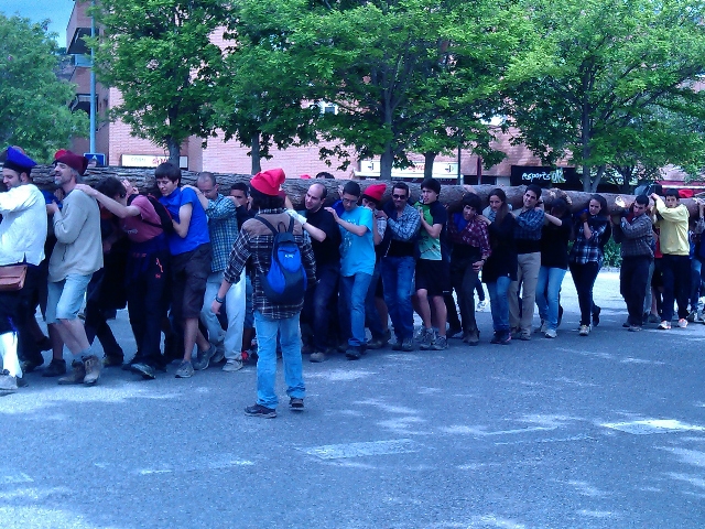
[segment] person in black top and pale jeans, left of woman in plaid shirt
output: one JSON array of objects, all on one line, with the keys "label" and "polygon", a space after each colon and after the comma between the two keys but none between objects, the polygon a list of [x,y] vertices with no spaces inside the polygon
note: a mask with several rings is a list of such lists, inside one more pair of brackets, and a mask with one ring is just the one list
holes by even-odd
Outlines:
[{"label": "person in black top and pale jeans, left of woman in plaid shirt", "polygon": [[536,305],[546,338],[555,338],[558,328],[558,294],[568,268],[568,241],[573,233],[571,208],[563,198],[551,203],[541,230],[541,268],[536,283]]}]

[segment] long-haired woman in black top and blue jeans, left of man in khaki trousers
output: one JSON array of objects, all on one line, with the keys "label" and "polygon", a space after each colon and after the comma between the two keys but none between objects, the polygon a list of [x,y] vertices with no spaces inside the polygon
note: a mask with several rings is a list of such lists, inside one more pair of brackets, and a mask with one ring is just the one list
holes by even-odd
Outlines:
[{"label": "long-haired woman in black top and blue jeans, left of man in khaki trousers", "polygon": [[500,188],[489,194],[489,212],[478,217],[488,226],[491,255],[482,267],[482,282],[487,284],[495,335],[490,343],[509,345],[509,284],[517,280],[517,248],[514,217],[509,210],[507,195]]}]

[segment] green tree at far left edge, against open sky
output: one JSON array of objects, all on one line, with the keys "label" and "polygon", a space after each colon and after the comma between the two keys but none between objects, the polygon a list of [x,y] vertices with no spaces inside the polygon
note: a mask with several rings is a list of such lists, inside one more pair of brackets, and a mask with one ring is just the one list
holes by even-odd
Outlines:
[{"label": "green tree at far left edge, against open sky", "polygon": [[0,145],[20,145],[37,161],[88,132],[86,114],[68,108],[74,88],[56,76],[58,47],[46,24],[0,13]]}]

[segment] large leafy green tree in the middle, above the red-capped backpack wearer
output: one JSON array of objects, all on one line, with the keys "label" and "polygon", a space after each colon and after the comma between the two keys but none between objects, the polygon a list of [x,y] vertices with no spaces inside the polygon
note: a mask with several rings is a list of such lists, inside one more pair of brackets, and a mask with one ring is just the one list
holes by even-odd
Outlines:
[{"label": "large leafy green tree in the middle, above the red-capped backpack wearer", "polygon": [[471,139],[484,114],[478,101],[531,47],[522,46],[531,35],[525,17],[501,0],[257,6],[269,13],[265,45],[296,57],[308,99],[337,105],[317,122],[324,139],[338,142],[322,156],[348,148],[361,159],[379,155],[382,179],[409,163],[412,148],[443,152]]}]

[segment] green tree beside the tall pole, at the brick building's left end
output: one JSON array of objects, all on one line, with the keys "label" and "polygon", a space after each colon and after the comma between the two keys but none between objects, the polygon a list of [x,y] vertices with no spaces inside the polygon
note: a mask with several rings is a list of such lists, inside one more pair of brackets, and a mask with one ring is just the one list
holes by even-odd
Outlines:
[{"label": "green tree beside the tall pole, at the brick building's left end", "polygon": [[164,147],[178,164],[189,136],[214,131],[215,86],[221,51],[210,37],[227,21],[225,0],[100,0],[95,10],[99,80],[118,88],[122,102],[110,118]]}]

